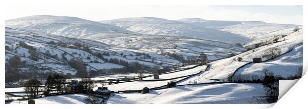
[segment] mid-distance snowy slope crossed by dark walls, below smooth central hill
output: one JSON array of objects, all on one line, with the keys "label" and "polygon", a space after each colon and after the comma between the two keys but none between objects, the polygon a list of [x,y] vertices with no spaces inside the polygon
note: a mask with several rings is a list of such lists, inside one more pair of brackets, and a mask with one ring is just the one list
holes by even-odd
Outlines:
[{"label": "mid-distance snowy slope crossed by dark walls, below smooth central hill", "polygon": [[175,53],[183,55],[185,59],[196,58],[200,54],[207,54],[208,60],[228,57],[231,53],[239,54],[246,49],[240,46],[218,41],[167,35],[139,35],[123,37],[105,37],[90,39],[124,48],[134,48],[157,54]]}]

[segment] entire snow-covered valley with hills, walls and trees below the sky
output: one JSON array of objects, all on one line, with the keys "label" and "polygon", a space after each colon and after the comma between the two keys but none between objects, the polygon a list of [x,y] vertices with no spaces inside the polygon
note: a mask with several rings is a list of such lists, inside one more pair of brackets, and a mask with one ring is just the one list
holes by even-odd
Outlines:
[{"label": "entire snow-covered valley with hills, walls and trees below the sky", "polygon": [[[267,77],[302,75],[302,27],[200,18],[6,20],[5,97],[9,104],[268,104]],[[64,85],[50,87],[50,75],[63,75]],[[33,79],[41,84],[25,91]],[[72,92],[72,84],[86,88]]]}]

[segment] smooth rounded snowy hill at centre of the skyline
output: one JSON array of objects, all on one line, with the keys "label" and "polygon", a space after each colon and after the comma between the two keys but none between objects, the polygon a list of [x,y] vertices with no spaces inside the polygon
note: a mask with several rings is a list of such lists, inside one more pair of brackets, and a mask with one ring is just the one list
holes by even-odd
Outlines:
[{"label": "smooth rounded snowy hill at centre of the skyline", "polygon": [[251,41],[248,38],[230,32],[154,17],[121,18],[100,22],[142,34],[187,36],[232,44],[243,44]]}]

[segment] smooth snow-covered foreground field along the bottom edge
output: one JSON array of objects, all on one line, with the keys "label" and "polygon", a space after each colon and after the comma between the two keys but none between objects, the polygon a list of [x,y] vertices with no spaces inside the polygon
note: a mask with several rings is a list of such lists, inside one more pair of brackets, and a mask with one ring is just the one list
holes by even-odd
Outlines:
[{"label": "smooth snow-covered foreground field along the bottom edge", "polygon": [[148,94],[115,94],[108,104],[264,104],[262,84],[211,84],[177,86]]}]

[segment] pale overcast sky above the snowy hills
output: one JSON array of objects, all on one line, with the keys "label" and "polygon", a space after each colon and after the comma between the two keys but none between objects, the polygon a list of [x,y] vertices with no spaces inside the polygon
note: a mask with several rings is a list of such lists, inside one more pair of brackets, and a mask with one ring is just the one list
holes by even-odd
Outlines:
[{"label": "pale overcast sky above the snowy hills", "polygon": [[94,21],[146,16],[303,24],[302,5],[9,5],[4,17],[31,15],[74,16]]}]

